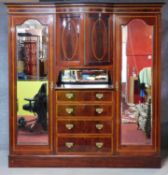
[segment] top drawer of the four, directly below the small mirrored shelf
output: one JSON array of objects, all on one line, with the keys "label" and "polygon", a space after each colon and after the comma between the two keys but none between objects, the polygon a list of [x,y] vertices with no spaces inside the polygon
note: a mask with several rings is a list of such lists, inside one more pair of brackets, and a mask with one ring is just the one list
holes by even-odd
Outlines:
[{"label": "top drawer of the four, directly below the small mirrored shelf", "polygon": [[57,91],[58,101],[111,101],[110,91]]}]

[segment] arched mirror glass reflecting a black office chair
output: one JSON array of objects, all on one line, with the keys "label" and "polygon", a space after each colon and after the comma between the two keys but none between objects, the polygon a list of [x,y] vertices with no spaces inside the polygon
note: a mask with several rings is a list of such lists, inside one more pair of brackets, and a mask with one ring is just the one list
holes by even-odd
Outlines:
[{"label": "arched mirror glass reflecting a black office chair", "polygon": [[37,20],[16,27],[17,144],[48,144],[48,28]]}]

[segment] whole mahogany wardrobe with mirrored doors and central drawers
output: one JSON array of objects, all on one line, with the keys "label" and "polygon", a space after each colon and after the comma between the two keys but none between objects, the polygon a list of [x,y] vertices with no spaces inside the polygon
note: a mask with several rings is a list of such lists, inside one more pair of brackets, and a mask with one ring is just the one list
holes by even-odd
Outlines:
[{"label": "whole mahogany wardrobe with mirrored doors and central drawers", "polygon": [[162,3],[6,3],[10,167],[160,167]]}]

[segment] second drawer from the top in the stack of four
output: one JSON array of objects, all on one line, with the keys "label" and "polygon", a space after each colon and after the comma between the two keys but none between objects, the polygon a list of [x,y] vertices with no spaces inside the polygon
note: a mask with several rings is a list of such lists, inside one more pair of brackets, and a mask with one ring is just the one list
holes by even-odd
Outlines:
[{"label": "second drawer from the top in the stack of four", "polygon": [[111,116],[112,105],[57,105],[57,116]]}]

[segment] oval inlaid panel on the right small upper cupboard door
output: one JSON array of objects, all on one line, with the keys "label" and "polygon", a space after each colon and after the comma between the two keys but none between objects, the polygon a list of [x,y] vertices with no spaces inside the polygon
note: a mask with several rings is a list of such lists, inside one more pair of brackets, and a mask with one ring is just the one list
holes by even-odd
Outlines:
[{"label": "oval inlaid panel on the right small upper cupboard door", "polygon": [[102,19],[97,19],[92,28],[92,52],[97,60],[102,60],[107,52],[107,30]]}]

